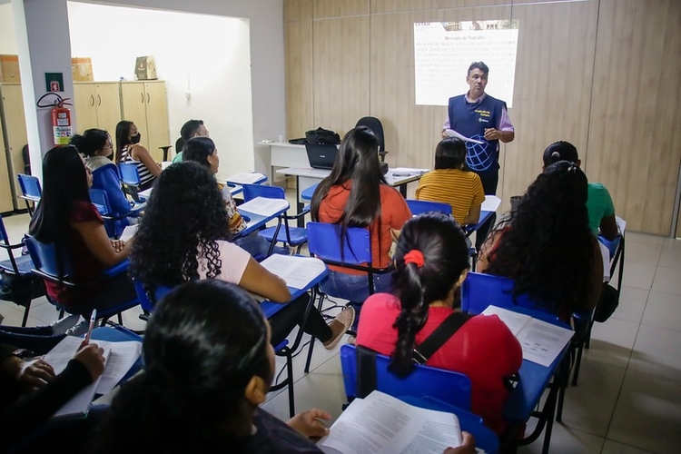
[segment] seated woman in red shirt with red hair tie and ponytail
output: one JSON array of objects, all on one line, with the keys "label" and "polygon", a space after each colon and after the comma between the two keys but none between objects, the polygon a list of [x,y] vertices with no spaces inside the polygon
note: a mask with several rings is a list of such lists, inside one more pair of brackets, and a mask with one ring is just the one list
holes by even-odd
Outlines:
[{"label": "seated woman in red shirt with red hair tie and ponytail", "polygon": [[[407,376],[413,370],[411,351],[459,309],[469,249],[457,222],[432,212],[404,224],[394,259],[393,290],[364,302],[357,344],[390,355],[390,370]],[[504,380],[521,363],[520,344],[496,315],[469,318],[426,362],[466,374],[472,411],[498,434],[507,426]]]}]

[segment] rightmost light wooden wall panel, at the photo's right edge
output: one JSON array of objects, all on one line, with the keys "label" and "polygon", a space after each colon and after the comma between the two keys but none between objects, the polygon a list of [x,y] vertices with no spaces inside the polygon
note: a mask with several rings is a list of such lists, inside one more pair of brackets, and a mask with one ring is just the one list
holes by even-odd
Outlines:
[{"label": "rightmost light wooden wall panel, at the photo's right edge", "polygon": [[681,3],[601,0],[587,172],[634,231],[669,234],[681,161]]}]

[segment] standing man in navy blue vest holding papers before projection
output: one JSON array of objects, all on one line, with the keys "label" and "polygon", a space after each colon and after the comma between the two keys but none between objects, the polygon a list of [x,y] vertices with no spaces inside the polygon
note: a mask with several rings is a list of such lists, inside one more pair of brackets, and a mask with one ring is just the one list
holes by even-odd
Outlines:
[{"label": "standing man in navy blue vest holding papers before projection", "polygon": [[482,62],[469,66],[466,83],[467,94],[449,98],[449,117],[442,128],[442,137],[448,137],[447,130],[480,143],[467,142],[466,163],[478,173],[486,194],[496,194],[498,184],[498,141],[508,143],[516,137],[510,123],[506,103],[485,93],[489,67]]}]

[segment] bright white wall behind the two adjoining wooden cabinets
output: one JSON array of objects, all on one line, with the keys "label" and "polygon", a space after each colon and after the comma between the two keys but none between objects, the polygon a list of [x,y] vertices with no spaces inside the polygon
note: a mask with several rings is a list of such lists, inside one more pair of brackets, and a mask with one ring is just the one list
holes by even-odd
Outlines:
[{"label": "bright white wall behind the two adjoining wooden cabinets", "polygon": [[[112,39],[114,29],[102,30],[102,17],[134,33]],[[167,90],[169,144],[184,122],[202,119],[222,155],[218,177],[253,170],[248,20],[70,2],[69,28],[71,54],[92,58],[97,81],[134,80],[135,58],[153,55]]]}]

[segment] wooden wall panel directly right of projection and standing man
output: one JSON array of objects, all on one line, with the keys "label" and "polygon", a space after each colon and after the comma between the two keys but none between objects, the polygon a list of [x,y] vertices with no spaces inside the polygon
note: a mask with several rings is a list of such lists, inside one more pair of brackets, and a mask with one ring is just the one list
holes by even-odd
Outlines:
[{"label": "wooden wall panel directly right of projection and standing man", "polygon": [[[516,140],[501,147],[503,208],[541,172],[549,143],[574,143],[587,156],[597,1],[514,6],[519,21],[513,106]],[[494,78],[490,64],[490,80]]]}]

